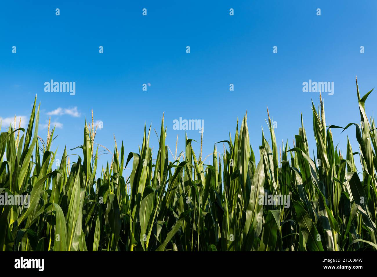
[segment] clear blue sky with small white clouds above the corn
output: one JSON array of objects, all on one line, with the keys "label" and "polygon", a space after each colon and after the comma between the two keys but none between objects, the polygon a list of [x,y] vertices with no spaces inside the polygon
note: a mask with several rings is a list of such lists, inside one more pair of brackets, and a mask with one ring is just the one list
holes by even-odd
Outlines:
[{"label": "clear blue sky with small white clouds above the corn", "polygon": [[[49,113],[55,111],[51,121],[60,128],[53,149],[58,147],[59,158],[64,145],[82,144],[92,108],[95,120],[103,122],[96,142],[111,151],[115,134],[126,153],[138,152],[144,123],[152,123],[150,146],[156,149],[153,128],[159,130],[165,112],[172,152],[177,134],[178,153],[184,150],[185,134],[173,129],[173,120],[204,120],[206,157],[215,142],[228,139],[229,131],[234,138],[236,119],[248,110],[250,142],[257,153],[261,127],[267,131],[267,105],[277,122],[278,143],[288,139],[292,146],[302,112],[313,149],[311,99],[318,105],[319,93],[304,93],[302,83],[334,82],[334,94],[323,94],[326,123],[340,126],[360,122],[355,75],[361,94],[377,84],[375,1],[38,2],[0,4],[0,117],[28,118],[37,94],[43,138]],[[76,94],[44,92],[44,82],[51,79],[76,82]],[[150,83],[147,91],[144,83]],[[368,116],[374,115],[376,100],[372,93]],[[6,127],[3,123],[2,131]],[[343,152],[346,135],[357,151],[354,128],[333,134]],[[187,135],[198,141],[194,149],[199,154],[200,133],[189,130]],[[218,148],[222,152],[222,144]],[[82,155],[69,154],[74,153]],[[99,164],[110,159],[102,155]]]}]

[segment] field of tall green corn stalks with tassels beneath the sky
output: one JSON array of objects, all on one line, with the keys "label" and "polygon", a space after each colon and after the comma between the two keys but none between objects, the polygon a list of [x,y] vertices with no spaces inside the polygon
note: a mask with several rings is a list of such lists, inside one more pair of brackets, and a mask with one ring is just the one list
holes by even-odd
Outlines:
[{"label": "field of tall green corn stalks with tassels beneath the sky", "polygon": [[[55,128],[46,142],[38,137],[35,98],[27,129],[11,124],[0,135],[0,194],[30,196],[27,207],[0,202],[0,250],[377,250],[377,131],[364,108],[371,91],[360,97],[357,81],[356,88],[361,124],[326,126],[322,99],[317,108],[312,102],[316,153],[309,152],[302,116],[293,145],[278,146],[267,114],[257,161],[246,113],[228,140],[214,142],[208,164],[187,135],[169,160],[162,116],[155,159],[152,127],[144,126],[139,151],[127,155],[115,141],[101,170],[93,120],[85,122],[82,156],[71,163],[64,149],[52,170]],[[333,128],[355,128],[358,152],[349,140],[345,151],[334,147]],[[125,177],[126,166],[132,172]],[[288,202],[276,201],[283,198]]]}]

